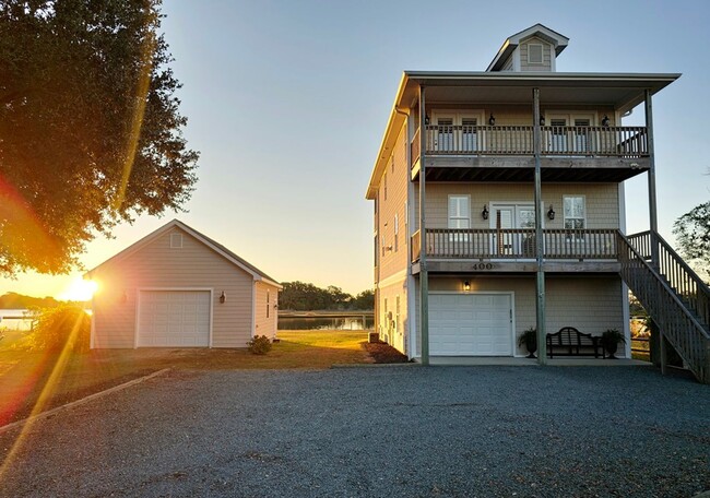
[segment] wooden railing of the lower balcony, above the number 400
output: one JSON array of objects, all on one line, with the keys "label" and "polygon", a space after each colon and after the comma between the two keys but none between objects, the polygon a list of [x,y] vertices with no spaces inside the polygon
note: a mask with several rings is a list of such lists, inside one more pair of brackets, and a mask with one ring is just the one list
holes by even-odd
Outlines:
[{"label": "wooden railing of the lower balcony, above the number 400", "polygon": [[[419,259],[422,241],[412,236],[412,261]],[[430,258],[534,259],[535,230],[427,228],[426,254]],[[545,259],[616,259],[616,229],[543,232]]]}]

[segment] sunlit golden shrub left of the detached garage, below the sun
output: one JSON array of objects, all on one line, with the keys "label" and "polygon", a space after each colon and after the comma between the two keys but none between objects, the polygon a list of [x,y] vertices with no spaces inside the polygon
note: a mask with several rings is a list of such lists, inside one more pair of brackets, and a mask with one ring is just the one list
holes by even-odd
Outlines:
[{"label": "sunlit golden shrub left of the detached garage, below the sun", "polygon": [[91,318],[80,305],[64,304],[34,311],[29,344],[33,349],[59,352],[88,351]]}]

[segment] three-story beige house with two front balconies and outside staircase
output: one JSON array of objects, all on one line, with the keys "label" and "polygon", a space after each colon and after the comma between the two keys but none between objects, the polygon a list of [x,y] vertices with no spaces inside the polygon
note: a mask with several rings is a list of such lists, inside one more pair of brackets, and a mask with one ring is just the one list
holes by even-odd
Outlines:
[{"label": "three-story beige house with two front balconies and outside staircase", "polygon": [[[564,73],[541,24],[481,72],[405,71],[375,162],[376,328],[411,358],[524,356],[563,327],[624,331],[628,288],[708,379],[707,287],[658,236],[652,96],[679,74]],[[646,126],[626,127],[635,107]],[[650,227],[625,235],[624,181]]]}]

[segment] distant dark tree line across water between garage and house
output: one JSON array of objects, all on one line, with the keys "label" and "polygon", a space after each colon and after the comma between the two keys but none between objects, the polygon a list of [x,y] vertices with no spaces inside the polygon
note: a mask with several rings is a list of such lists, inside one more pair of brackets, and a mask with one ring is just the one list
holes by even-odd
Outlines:
[{"label": "distant dark tree line across water between garage and house", "polygon": [[340,287],[316,287],[304,282],[285,282],[279,293],[279,308],[295,311],[313,310],[371,310],[375,309],[375,293],[363,290],[357,296],[344,293]]}]

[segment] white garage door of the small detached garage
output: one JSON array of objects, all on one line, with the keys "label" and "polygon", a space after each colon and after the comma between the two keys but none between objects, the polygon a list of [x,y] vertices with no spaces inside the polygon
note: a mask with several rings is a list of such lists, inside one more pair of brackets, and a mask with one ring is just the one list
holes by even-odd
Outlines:
[{"label": "white garage door of the small detached garage", "polygon": [[209,290],[141,290],[139,347],[210,345]]}]

